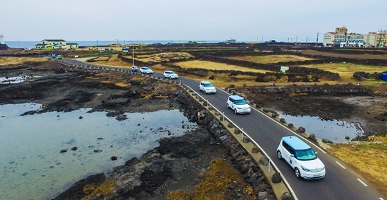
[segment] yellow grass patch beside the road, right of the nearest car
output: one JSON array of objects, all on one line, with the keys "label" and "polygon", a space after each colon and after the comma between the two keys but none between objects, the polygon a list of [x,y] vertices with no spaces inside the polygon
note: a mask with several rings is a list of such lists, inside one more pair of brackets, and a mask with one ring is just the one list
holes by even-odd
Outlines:
[{"label": "yellow grass patch beside the road, right of the nearest car", "polygon": [[332,143],[328,149],[387,195],[387,136],[368,137],[367,141]]}]

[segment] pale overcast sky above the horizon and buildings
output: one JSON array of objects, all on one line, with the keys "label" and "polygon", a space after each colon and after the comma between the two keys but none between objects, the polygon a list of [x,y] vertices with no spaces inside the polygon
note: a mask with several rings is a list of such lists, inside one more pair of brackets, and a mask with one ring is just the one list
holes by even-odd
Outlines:
[{"label": "pale overcast sky above the horizon and buildings", "polygon": [[387,30],[386,0],[1,0],[5,41],[319,41]]}]

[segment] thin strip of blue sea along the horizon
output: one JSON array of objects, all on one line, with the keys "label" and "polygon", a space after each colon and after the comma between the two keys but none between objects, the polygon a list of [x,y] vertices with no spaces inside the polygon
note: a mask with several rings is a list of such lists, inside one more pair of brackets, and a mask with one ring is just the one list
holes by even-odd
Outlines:
[{"label": "thin strip of blue sea along the horizon", "polygon": [[[124,46],[131,44],[154,44],[154,43],[188,43],[187,40],[110,40],[110,41],[66,41],[66,43],[77,43],[78,46],[108,46],[110,44],[122,44]],[[224,41],[196,41],[198,43],[220,43]],[[243,42],[243,41],[240,41]],[[250,41],[251,42],[251,41]],[[4,41],[4,43],[10,48],[35,48],[35,45],[41,43],[41,41]]]}]

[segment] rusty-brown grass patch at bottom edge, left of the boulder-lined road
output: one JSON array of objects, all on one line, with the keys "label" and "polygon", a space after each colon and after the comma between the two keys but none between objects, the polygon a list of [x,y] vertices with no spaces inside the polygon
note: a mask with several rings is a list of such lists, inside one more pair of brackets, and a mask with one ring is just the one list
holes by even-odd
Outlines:
[{"label": "rusty-brown grass patch at bottom edge, left of the boulder-lined road", "polygon": [[[167,200],[224,199],[225,190],[232,184],[245,184],[243,178],[223,159],[213,159],[209,172],[199,174],[200,183],[193,191],[176,190],[167,194]],[[253,194],[252,186],[245,184],[244,193]],[[241,191],[242,192],[242,191]]]}]

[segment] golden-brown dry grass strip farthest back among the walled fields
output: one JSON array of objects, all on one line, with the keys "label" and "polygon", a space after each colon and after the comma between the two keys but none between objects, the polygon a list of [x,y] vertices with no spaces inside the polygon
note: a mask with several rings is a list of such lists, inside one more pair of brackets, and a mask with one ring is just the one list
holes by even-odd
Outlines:
[{"label": "golden-brown dry grass strip farthest back among the walled fields", "polygon": [[229,57],[230,59],[237,59],[243,61],[250,61],[254,63],[279,63],[290,61],[310,61],[314,60],[307,57],[299,57],[294,55],[267,55],[267,56],[254,56],[254,57]]}]

